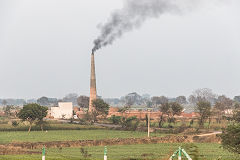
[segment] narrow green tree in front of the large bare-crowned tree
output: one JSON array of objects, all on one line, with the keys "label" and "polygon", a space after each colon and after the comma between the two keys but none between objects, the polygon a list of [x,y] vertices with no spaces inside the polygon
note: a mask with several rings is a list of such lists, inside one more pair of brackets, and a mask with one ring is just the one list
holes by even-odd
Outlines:
[{"label": "narrow green tree in front of the large bare-crowned tree", "polygon": [[199,101],[196,110],[200,115],[199,125],[203,126],[204,121],[211,115],[211,103],[207,101]]}]

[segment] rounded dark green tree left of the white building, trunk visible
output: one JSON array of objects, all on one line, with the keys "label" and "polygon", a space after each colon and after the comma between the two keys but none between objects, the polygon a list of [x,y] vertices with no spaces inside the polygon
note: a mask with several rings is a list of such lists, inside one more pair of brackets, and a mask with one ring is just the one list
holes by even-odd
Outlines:
[{"label": "rounded dark green tree left of the white building, trunk visible", "polygon": [[[22,121],[30,123],[28,133],[31,131],[32,125],[35,121],[42,122],[43,118],[47,115],[47,107],[40,106],[39,104],[32,103],[24,105],[20,112],[17,114],[18,118]],[[42,128],[42,126],[41,126]]]}]

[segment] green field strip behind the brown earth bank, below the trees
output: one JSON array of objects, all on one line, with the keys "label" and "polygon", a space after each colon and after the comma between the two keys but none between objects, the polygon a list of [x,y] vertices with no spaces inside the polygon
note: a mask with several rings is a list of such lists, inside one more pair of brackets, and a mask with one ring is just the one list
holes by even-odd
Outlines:
[{"label": "green field strip behind the brown earth bank, below the trees", "polygon": [[[152,133],[152,136],[166,134]],[[47,142],[70,140],[96,140],[110,138],[145,137],[146,132],[118,131],[118,130],[55,130],[55,131],[6,131],[0,132],[0,144],[10,142]]]}]

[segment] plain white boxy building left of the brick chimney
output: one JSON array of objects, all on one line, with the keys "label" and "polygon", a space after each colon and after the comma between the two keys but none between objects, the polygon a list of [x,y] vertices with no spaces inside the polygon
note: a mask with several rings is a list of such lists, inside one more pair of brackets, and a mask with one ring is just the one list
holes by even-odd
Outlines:
[{"label": "plain white boxy building left of the brick chimney", "polygon": [[70,119],[73,117],[72,102],[59,102],[58,107],[51,107],[51,116],[54,118]]}]

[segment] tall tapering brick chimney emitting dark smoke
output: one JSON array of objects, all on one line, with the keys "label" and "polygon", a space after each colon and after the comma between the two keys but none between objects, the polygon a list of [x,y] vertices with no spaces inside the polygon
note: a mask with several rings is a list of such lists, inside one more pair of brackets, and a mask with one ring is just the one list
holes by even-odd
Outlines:
[{"label": "tall tapering brick chimney emitting dark smoke", "polygon": [[92,55],[91,55],[90,98],[89,98],[89,108],[88,108],[89,112],[92,112],[94,110],[94,108],[92,106],[92,100],[95,100],[95,99],[97,99],[97,88],[96,88],[94,53],[92,53]]}]

